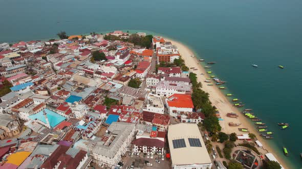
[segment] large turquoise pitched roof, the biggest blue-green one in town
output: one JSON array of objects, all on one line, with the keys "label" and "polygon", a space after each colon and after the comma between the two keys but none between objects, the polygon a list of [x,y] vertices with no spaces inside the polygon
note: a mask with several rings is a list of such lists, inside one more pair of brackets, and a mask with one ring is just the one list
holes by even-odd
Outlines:
[{"label": "large turquoise pitched roof, the biggest blue-green one in town", "polygon": [[[56,114],[56,112],[52,110],[49,110],[47,108],[45,108],[44,110],[46,112],[46,116],[48,118],[51,127],[55,127],[56,125],[58,125],[59,123],[61,123],[66,119],[63,116]],[[37,114],[30,115],[29,118],[32,120],[38,119],[39,121],[46,123],[46,119],[43,115],[43,110],[39,111]]]}]

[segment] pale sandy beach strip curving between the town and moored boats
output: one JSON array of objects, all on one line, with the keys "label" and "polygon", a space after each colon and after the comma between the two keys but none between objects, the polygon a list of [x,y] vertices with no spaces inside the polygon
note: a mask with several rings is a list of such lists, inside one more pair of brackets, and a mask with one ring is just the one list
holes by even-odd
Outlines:
[{"label": "pale sandy beach strip curving between the town and moored boats", "polygon": [[[231,102],[228,100],[228,98],[218,89],[217,86],[215,86],[215,85],[207,86],[207,83],[204,82],[204,80],[206,78],[208,78],[209,75],[206,73],[206,70],[199,64],[200,62],[198,61],[198,59],[196,57],[195,58],[191,57],[191,55],[195,55],[195,53],[193,53],[193,51],[191,49],[189,49],[187,46],[185,46],[184,44],[182,44],[178,41],[174,41],[174,40],[167,39],[167,38],[165,38],[165,39],[167,41],[172,42],[172,44],[174,44],[178,47],[179,53],[181,54],[182,58],[184,59],[186,66],[188,66],[189,68],[194,67],[194,68],[198,69],[198,70],[190,69],[190,71],[197,74],[198,81],[200,81],[202,83],[202,86],[203,86],[202,89],[205,92],[209,93],[210,101],[219,110],[220,116],[223,119],[223,121],[220,121],[220,125],[222,127],[222,132],[225,132],[227,134],[230,134],[233,132],[235,132],[236,134],[243,134],[244,132],[239,131],[238,128],[248,128],[249,131],[251,133],[254,133],[257,136],[257,139],[260,140],[260,142],[263,144],[263,149],[258,148],[258,150],[260,152],[265,154],[268,151],[268,152],[274,154],[276,159],[281,163],[281,165],[284,168],[290,168],[290,167],[288,167],[289,165],[287,165],[287,163],[285,163],[285,161],[283,159],[279,158],[276,155],[276,152],[269,146],[269,143],[267,143],[267,140],[265,140],[261,136],[259,136],[259,132],[257,132],[257,129],[255,128],[255,126],[252,125],[248,121],[248,119],[241,114],[241,112],[238,108],[234,107],[231,104]],[[204,75],[201,75],[201,73],[203,73]],[[251,107],[246,107],[246,108],[251,108]],[[240,116],[238,118],[228,118],[228,117],[226,117],[226,114],[228,112],[235,112],[236,114],[238,114]],[[228,125],[229,122],[241,123],[241,125],[238,127],[230,127]]]}]

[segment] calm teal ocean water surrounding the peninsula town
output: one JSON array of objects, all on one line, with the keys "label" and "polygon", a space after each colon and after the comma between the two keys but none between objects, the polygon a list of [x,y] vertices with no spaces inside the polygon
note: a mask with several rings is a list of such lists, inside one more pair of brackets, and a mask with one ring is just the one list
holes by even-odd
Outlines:
[{"label": "calm teal ocean water surrounding the peninsula town", "polygon": [[[301,168],[301,5],[298,0],[10,0],[0,6],[0,42],[113,30],[148,30],[181,41],[198,57],[217,62],[211,70],[274,132],[269,142],[277,156]],[[281,131],[277,122],[290,127]]]}]

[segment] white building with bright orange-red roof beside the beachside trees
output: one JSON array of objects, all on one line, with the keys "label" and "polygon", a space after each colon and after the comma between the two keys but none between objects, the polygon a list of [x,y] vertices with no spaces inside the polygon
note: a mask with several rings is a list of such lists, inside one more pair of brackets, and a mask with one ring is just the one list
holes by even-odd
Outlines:
[{"label": "white building with bright orange-red roof beside the beachside trees", "polygon": [[194,105],[191,95],[174,94],[166,98],[166,105],[171,116],[181,116],[184,112],[192,112]]}]

